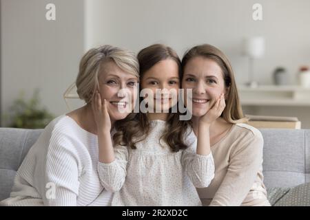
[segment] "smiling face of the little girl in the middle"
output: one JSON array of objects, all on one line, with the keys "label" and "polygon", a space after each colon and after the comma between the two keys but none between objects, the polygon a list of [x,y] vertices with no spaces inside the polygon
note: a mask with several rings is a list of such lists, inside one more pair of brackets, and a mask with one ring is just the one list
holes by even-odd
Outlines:
[{"label": "smiling face of the little girl in the middle", "polygon": [[[178,89],[180,88],[180,78],[178,76],[178,64],[172,59],[167,59],[156,63],[151,69],[144,73],[141,80],[141,89],[151,89],[153,100],[149,100],[149,108],[154,112],[160,109],[167,112],[178,100]],[[161,89],[157,90],[156,89]],[[161,91],[159,93],[158,91]],[[156,94],[157,92],[157,94]],[[175,92],[175,94],[174,94]],[[154,105],[152,106],[152,103]],[[157,109],[156,109],[156,106]]]}]

